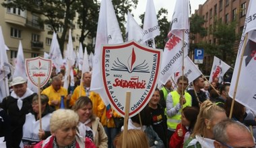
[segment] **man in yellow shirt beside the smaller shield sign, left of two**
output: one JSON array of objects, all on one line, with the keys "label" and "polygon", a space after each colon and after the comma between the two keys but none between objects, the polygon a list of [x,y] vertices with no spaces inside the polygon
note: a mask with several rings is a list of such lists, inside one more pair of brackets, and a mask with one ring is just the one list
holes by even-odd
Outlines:
[{"label": "man in yellow shirt beside the smaller shield sign, left of two", "polygon": [[46,87],[46,89],[42,91],[42,94],[48,96],[49,105],[54,106],[55,110],[60,108],[61,96],[64,97],[64,103],[67,101],[67,89],[61,86],[61,78],[58,76],[53,77],[51,86]]}]

